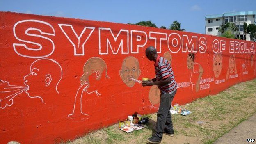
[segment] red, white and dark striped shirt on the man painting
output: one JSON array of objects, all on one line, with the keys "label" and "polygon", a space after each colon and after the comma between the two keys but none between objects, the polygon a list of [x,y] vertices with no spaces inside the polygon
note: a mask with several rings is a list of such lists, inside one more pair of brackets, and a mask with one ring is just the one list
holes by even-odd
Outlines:
[{"label": "red, white and dark striped shirt on the man painting", "polygon": [[157,81],[165,80],[168,77],[171,78],[171,83],[158,85],[158,89],[161,91],[161,93],[171,94],[178,88],[174,79],[174,72],[171,68],[171,64],[165,58],[160,57],[159,55],[155,62],[155,76]]}]

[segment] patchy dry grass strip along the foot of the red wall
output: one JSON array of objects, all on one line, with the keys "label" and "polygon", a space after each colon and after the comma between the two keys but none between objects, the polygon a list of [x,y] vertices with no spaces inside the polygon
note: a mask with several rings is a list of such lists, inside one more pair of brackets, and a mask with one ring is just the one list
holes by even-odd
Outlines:
[{"label": "patchy dry grass strip along the foot of the red wall", "polygon": [[[256,80],[234,85],[214,96],[183,105],[193,113],[172,115],[174,137],[163,136],[162,144],[212,144],[256,112]],[[156,114],[148,114],[146,128],[132,133],[118,129],[118,124],[103,128],[68,144],[145,144],[155,132]],[[198,123],[202,121],[203,123]]]}]

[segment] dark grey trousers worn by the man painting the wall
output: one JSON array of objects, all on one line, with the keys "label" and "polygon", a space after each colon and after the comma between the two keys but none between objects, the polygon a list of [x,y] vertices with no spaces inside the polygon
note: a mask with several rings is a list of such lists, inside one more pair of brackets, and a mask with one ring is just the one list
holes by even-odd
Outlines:
[{"label": "dark grey trousers worn by the man painting the wall", "polygon": [[161,93],[160,106],[158,109],[155,126],[155,134],[160,138],[162,138],[164,128],[166,128],[166,130],[169,132],[173,130],[170,109],[171,102],[174,98],[174,95],[176,94],[176,91],[177,90],[175,90],[172,94]]}]

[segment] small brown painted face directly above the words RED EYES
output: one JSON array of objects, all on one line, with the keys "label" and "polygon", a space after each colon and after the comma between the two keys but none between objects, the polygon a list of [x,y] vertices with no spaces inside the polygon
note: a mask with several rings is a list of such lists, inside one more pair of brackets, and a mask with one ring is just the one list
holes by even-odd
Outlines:
[{"label": "small brown painted face directly above the words RED EYES", "polygon": [[213,55],[213,73],[215,78],[219,78],[222,71],[222,53],[215,53]]}]

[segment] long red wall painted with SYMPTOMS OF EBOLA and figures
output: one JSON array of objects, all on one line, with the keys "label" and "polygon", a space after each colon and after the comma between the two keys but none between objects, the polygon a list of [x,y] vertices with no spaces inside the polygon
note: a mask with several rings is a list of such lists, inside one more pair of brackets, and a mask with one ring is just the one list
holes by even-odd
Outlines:
[{"label": "long red wall painted with SYMPTOMS OF EBOLA and figures", "polygon": [[179,84],[173,104],[255,78],[250,41],[0,12],[0,143],[67,141],[135,112],[156,112],[159,90],[128,80],[154,78],[148,46],[171,54],[165,57]]}]

